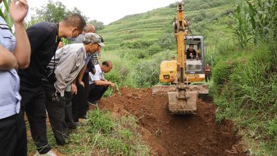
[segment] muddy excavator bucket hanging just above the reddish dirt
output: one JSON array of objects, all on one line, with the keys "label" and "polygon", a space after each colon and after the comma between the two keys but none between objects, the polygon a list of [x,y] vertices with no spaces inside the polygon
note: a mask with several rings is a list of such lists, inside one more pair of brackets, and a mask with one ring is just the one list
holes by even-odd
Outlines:
[{"label": "muddy excavator bucket hanging just above the reddish dirt", "polygon": [[197,91],[187,91],[185,99],[178,98],[178,91],[168,92],[168,109],[175,115],[190,115],[197,111]]}]

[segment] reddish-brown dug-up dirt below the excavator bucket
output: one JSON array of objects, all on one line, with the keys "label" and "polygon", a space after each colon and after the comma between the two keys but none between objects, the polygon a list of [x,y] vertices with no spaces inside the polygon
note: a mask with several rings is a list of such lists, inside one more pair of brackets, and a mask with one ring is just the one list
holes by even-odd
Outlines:
[{"label": "reddish-brown dug-up dirt below the excavator bucket", "polygon": [[168,97],[152,89],[120,88],[99,102],[111,115],[135,115],[153,155],[242,155],[231,121],[215,124],[215,106],[201,99],[196,115],[170,115]]}]

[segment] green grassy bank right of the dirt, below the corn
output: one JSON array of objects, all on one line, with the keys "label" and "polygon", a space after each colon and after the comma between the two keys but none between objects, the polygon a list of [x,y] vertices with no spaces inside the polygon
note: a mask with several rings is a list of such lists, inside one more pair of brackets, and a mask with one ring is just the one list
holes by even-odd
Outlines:
[{"label": "green grassy bank right of the dirt, below the corn", "polygon": [[270,44],[223,48],[213,67],[216,120],[232,119],[253,155],[277,150],[277,79]]}]

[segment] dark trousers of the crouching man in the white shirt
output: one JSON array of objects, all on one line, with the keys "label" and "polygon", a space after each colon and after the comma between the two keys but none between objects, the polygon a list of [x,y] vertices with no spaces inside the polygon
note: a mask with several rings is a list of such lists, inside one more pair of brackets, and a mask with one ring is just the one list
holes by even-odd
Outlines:
[{"label": "dark trousers of the crouching man in the white shirt", "polygon": [[95,84],[89,85],[89,101],[98,101],[104,95],[109,86],[96,86]]}]

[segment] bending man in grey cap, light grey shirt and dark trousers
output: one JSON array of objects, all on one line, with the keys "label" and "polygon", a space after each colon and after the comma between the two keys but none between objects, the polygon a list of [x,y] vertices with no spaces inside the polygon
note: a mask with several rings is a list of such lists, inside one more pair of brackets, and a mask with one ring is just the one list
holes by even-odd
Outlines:
[{"label": "bending man in grey cap, light grey shirt and dark trousers", "polygon": [[55,73],[55,79],[43,79],[46,90],[46,110],[58,145],[63,146],[68,139],[68,128],[65,121],[65,106],[71,100],[72,81],[85,64],[87,53],[100,51],[100,36],[87,33],[82,43],[74,43],[57,50],[48,68]]}]

